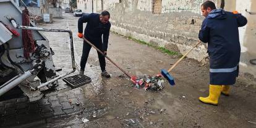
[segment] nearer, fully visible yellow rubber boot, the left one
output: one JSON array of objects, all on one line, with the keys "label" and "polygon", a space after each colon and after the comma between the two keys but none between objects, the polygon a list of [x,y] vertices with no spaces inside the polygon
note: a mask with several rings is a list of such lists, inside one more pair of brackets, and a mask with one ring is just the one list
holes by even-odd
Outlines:
[{"label": "nearer, fully visible yellow rubber boot, the left one", "polygon": [[199,100],[203,103],[208,103],[211,105],[218,105],[218,100],[221,93],[221,85],[210,85],[209,86],[209,96],[199,97]]}]

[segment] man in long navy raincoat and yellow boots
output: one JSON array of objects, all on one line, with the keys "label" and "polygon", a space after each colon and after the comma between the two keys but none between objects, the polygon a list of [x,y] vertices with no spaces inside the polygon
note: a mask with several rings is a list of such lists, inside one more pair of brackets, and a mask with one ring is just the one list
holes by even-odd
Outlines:
[{"label": "man in long navy raincoat and yellow boots", "polygon": [[201,10],[205,19],[198,37],[208,43],[210,86],[209,96],[199,100],[218,105],[220,94],[229,95],[229,85],[236,82],[241,53],[238,27],[246,25],[247,19],[236,11],[216,9],[211,1],[204,2]]}]

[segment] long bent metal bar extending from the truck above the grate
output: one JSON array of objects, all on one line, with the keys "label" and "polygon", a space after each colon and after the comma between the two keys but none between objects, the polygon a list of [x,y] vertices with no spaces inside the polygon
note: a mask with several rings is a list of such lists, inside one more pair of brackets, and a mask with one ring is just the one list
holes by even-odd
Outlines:
[{"label": "long bent metal bar extending from the truck above the grate", "polygon": [[72,59],[72,68],[75,70],[75,56],[74,56],[74,44],[73,44],[73,35],[72,31],[66,30],[66,29],[47,29],[47,28],[38,28],[38,27],[28,27],[28,26],[22,26],[22,25],[17,25],[14,19],[10,17],[6,17],[9,19],[12,23],[12,25],[15,28],[19,29],[26,29],[26,30],[36,30],[36,31],[43,31],[43,32],[67,32],[69,33],[69,38],[70,38],[70,50],[71,50],[71,59]]}]

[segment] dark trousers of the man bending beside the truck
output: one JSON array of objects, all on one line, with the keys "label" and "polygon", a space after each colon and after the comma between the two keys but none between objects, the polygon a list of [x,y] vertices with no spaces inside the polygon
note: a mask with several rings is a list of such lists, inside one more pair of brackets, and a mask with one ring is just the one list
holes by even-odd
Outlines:
[{"label": "dark trousers of the man bending beside the truck", "polygon": [[[93,45],[95,45],[98,49],[102,50],[102,43],[100,41],[91,41],[93,43]],[[85,70],[85,64],[87,62],[89,53],[90,53],[90,49],[92,48],[92,46],[90,46],[87,42],[83,41],[83,54],[82,54],[82,58],[80,61],[80,70]],[[104,51],[103,51],[104,52]],[[105,56],[103,56],[102,54],[100,54],[98,51],[98,58],[100,61],[100,69],[101,71],[105,70],[106,67],[106,60],[105,60]]]}]

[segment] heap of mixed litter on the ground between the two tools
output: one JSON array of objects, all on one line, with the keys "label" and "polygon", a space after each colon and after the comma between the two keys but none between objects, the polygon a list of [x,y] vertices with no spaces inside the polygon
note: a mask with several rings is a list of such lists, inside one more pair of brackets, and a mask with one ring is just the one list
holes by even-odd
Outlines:
[{"label": "heap of mixed litter on the ground between the two tools", "polygon": [[164,80],[161,78],[161,75],[156,75],[154,77],[144,75],[142,78],[134,80],[134,88],[159,91],[163,90],[163,83]]}]

